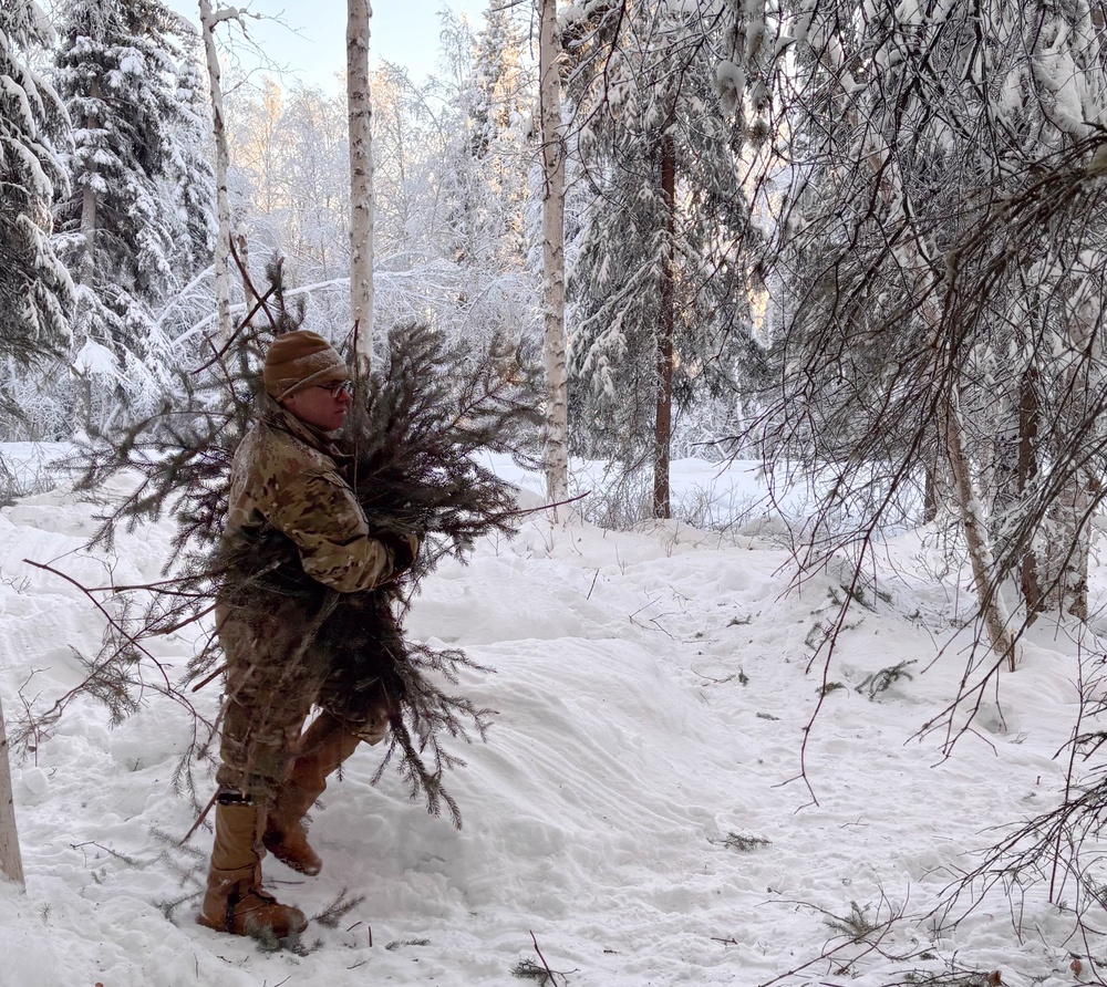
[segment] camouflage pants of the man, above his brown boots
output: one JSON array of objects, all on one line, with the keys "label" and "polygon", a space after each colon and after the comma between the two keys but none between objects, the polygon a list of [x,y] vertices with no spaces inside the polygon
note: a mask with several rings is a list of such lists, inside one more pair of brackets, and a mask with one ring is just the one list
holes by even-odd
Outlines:
[{"label": "camouflage pants of the man, above his brown boots", "polygon": [[[220,758],[220,791],[271,803],[299,752],[300,735],[314,705],[348,734],[375,744],[389,729],[383,688],[346,686],[349,673],[323,648],[312,646],[308,614],[294,605],[241,620],[217,610],[219,641],[227,655],[227,695]],[[354,698],[356,699],[354,702]]]}]

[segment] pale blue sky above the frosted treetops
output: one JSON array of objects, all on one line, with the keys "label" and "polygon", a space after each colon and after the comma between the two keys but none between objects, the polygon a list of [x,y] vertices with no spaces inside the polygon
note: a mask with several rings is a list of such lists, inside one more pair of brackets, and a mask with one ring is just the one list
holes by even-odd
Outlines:
[{"label": "pale blue sky above the frosted treetops", "polygon": [[[199,24],[196,0],[166,0],[174,10]],[[213,7],[217,4],[213,2]],[[247,19],[250,37],[279,65],[306,82],[333,90],[334,73],[345,70],[344,0],[252,0],[224,6],[249,9],[265,18],[279,18],[288,27],[271,20]],[[483,0],[376,0],[370,24],[370,59],[384,59],[407,67],[422,80],[434,70],[438,52],[438,11],[446,8],[467,12],[477,27],[483,23]],[[223,25],[219,31],[226,32]],[[235,29],[235,37],[240,37]],[[250,56],[240,55],[249,64]]]}]

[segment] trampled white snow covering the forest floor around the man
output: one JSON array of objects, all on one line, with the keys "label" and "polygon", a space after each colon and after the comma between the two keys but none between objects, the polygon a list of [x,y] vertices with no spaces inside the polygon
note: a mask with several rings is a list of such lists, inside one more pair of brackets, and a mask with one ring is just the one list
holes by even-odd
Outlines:
[{"label": "trampled white snow covering the forest floor around the man", "polygon": [[[759,496],[745,467],[680,464],[675,481],[720,510]],[[79,589],[23,560],[99,586],[152,580],[169,551],[167,526],[121,534],[111,557],[86,551],[101,510],[52,491],[0,512],[9,729],[24,703],[41,709],[80,680],[73,650],[95,653],[103,632]],[[996,887],[956,925],[934,912],[992,828],[1056,803],[1076,645],[1036,630],[999,704],[989,694],[943,757],[943,736],[919,731],[964,672],[969,601],[924,538],[897,538],[881,596],[856,607],[826,672],[841,687],[807,737],[808,788],[800,754],[824,686],[811,643],[841,590],[826,575],[786,592],[772,527],[744,523],[614,532],[532,515],[513,541],[428,579],[410,632],[495,669],[462,683],[496,710],[488,742],[459,751],[467,767],[448,779],[464,828],[408,801],[394,771],[371,786],[380,752],[359,751],[313,812],[322,874],[266,861],[276,893],[309,915],[364,895],[337,928],[309,928],[307,955],[200,928],[195,898],[165,916],[161,903],[198,893],[210,844],[205,830],[174,843],[195,819],[172,786],[192,723],[155,695],[115,728],[77,702],[12,765],[27,891],[0,881],[0,985],[490,987],[528,983],[513,972],[529,962],[571,987],[1049,987],[1077,980],[1077,956],[1094,980],[1104,942],[1074,936],[1045,884]],[[1100,592],[1103,570],[1093,578]],[[159,642],[159,657],[183,672],[194,637]],[[911,677],[870,698],[867,677],[900,663]],[[196,696],[209,716],[218,694]],[[834,927],[851,915],[897,917],[871,949]]]}]

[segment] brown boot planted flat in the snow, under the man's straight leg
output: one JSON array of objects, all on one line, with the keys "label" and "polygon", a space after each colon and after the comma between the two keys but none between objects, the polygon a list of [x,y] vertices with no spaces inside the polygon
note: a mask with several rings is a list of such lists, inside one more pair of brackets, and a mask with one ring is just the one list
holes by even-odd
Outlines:
[{"label": "brown boot planted flat in the snow, under the man's straight leg", "polygon": [[308,920],[261,890],[258,831],[263,812],[255,806],[216,806],[215,843],[204,904],[196,921],[236,936],[266,931],[277,938],[303,932]]}]

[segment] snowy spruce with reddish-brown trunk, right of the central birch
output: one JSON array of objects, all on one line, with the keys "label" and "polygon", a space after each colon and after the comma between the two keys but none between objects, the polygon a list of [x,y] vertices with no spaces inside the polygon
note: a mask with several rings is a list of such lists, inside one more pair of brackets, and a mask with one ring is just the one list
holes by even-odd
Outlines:
[{"label": "snowy spruce with reddish-brown trunk, right of the central birch", "polygon": [[720,102],[716,19],[596,10],[562,29],[592,187],[569,272],[570,434],[579,451],[651,465],[653,513],[669,517],[674,405],[734,391],[748,352],[746,134]]}]

